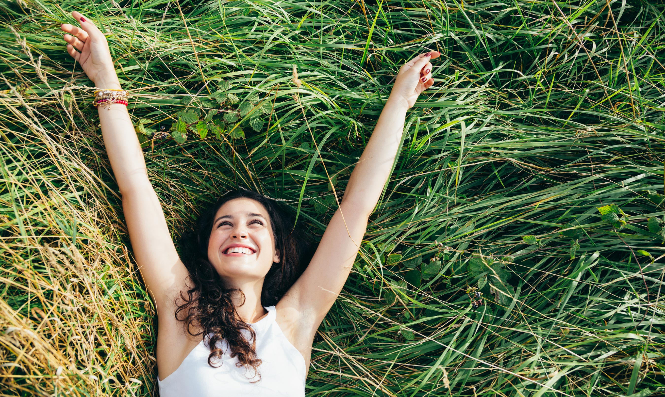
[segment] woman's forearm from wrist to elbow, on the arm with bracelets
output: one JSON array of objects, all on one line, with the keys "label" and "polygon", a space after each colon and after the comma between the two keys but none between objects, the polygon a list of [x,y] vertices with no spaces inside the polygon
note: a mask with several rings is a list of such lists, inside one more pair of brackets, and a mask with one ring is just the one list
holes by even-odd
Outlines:
[{"label": "woman's forearm from wrist to elbow, on the arm with bracelets", "polygon": [[126,194],[132,186],[149,183],[143,152],[127,107],[124,104],[111,104],[108,107],[100,105],[98,112],[104,146],[120,192]]}]

